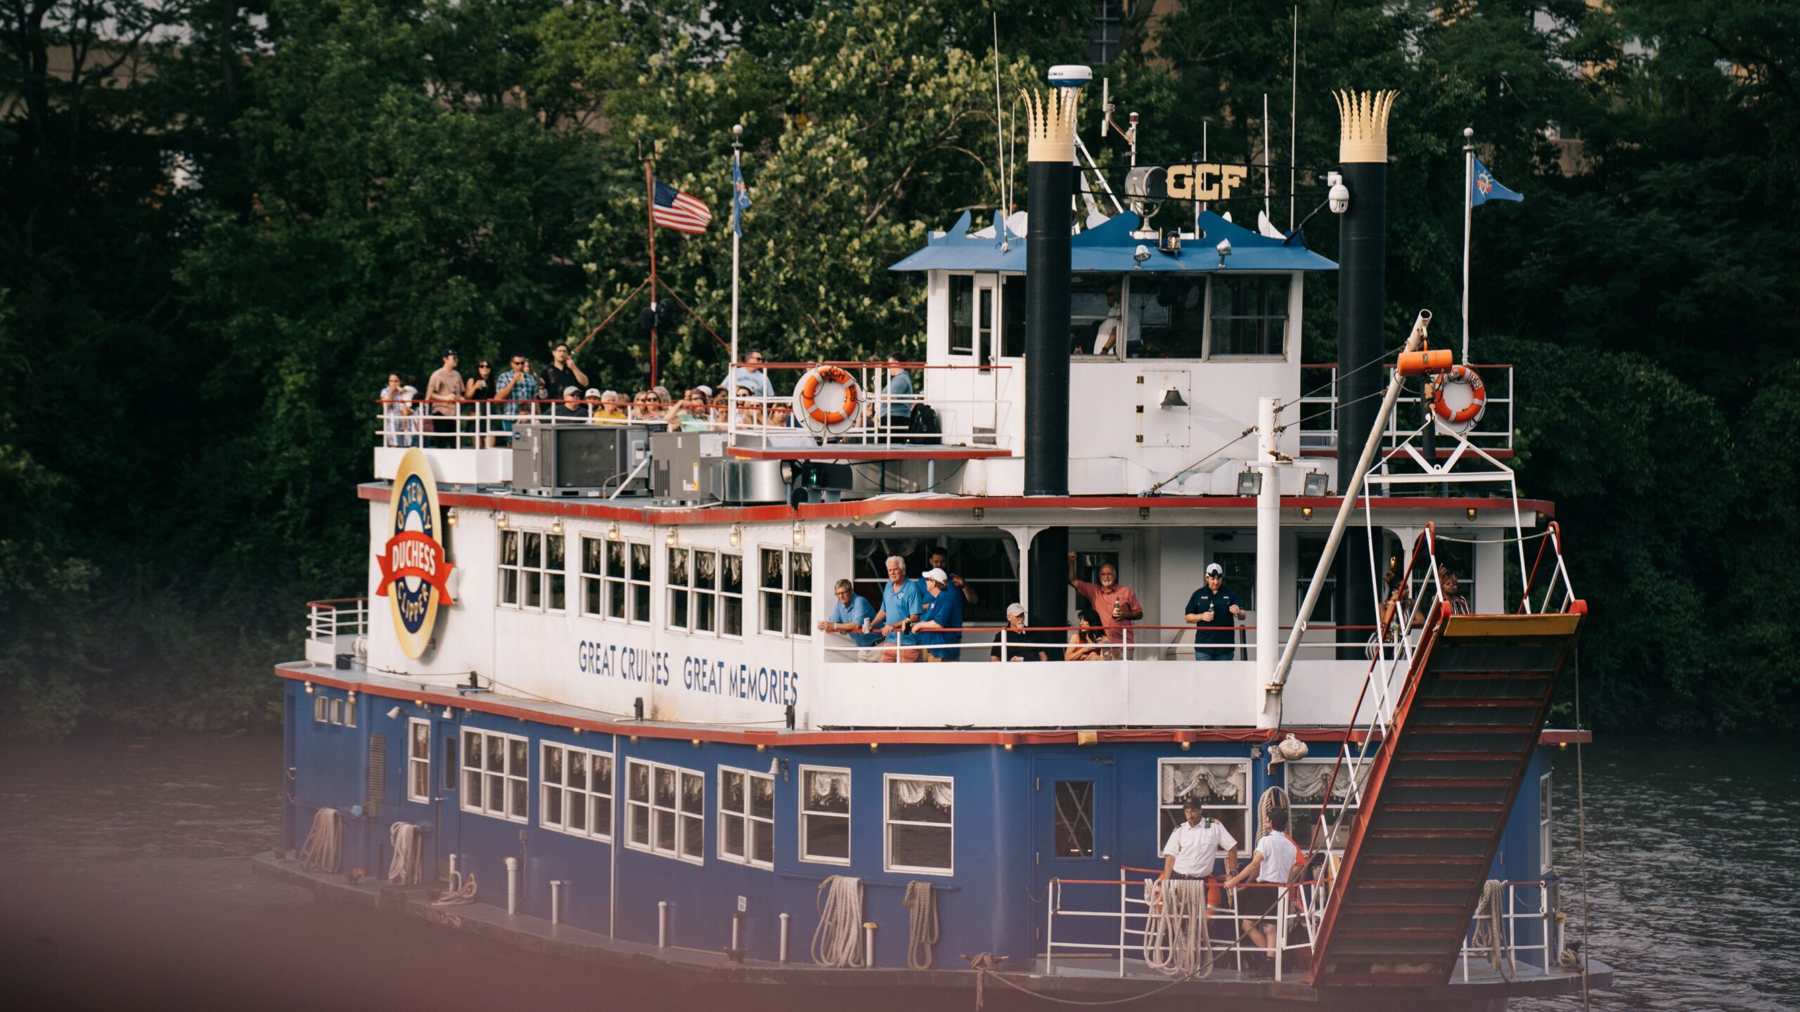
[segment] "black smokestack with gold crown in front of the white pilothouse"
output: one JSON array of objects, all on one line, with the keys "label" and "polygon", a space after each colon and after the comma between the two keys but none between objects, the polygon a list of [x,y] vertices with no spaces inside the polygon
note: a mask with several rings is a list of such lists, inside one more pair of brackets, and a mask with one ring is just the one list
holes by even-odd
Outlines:
[{"label": "black smokestack with gold crown in front of the white pilothouse", "polygon": [[[1075,202],[1075,115],[1094,72],[1049,68],[1049,88],[1024,92],[1024,493],[1069,493],[1069,214]],[[1031,623],[1067,625],[1064,585],[1067,528],[1031,542]]]}]

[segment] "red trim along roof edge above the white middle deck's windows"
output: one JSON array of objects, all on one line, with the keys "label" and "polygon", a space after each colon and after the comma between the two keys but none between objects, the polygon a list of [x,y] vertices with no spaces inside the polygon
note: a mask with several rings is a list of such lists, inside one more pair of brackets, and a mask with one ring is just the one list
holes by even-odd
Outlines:
[{"label": "red trim along roof edge above the white middle deck's windows", "polygon": [[[387,502],[392,486],[364,483],[356,497]],[[1247,495],[968,495],[943,499],[857,499],[850,502],[806,502],[799,510],[788,506],[695,506],[688,510],[648,510],[643,506],[614,506],[603,499],[549,499],[536,495],[493,495],[488,492],[448,492],[439,488],[437,501],[445,506],[470,510],[506,510],[509,513],[542,513],[587,520],[623,520],[632,524],[752,524],[769,520],[855,520],[889,513],[923,513],[934,510],[1255,510],[1256,499]],[[1336,495],[1285,495],[1283,510],[1336,510],[1343,502]],[[1375,510],[1507,510],[1505,499],[1478,497],[1377,497]],[[1521,513],[1555,515],[1555,504],[1546,499],[1519,499]],[[992,522],[992,517],[988,519]],[[1314,522],[1328,528],[1314,515]]]}]

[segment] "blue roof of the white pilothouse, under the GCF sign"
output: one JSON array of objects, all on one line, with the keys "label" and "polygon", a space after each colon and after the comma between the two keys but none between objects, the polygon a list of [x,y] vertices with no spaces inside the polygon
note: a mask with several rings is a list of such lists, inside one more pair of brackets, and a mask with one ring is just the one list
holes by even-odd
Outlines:
[{"label": "blue roof of the white pilothouse, under the GCF sign", "polygon": [[[931,236],[925,248],[907,256],[887,270],[1004,270],[1024,272],[1024,236],[994,216],[992,236],[968,234],[968,211],[950,225],[941,236]],[[1337,265],[1305,247],[1305,232],[1294,232],[1287,239],[1260,236],[1251,229],[1226,221],[1211,211],[1201,212],[1201,230],[1204,239],[1188,239],[1179,256],[1168,256],[1156,248],[1154,241],[1132,238],[1138,227],[1138,214],[1125,212],[1107,218],[1071,238],[1071,270],[1076,274],[1125,274],[1132,270],[1163,270],[1181,274],[1204,274],[1213,270],[1337,270]],[[1012,241],[1010,248],[1001,248],[1001,234]],[[1219,267],[1219,239],[1231,239],[1231,256]],[[1148,247],[1150,259],[1139,267],[1132,259],[1138,247]]]}]

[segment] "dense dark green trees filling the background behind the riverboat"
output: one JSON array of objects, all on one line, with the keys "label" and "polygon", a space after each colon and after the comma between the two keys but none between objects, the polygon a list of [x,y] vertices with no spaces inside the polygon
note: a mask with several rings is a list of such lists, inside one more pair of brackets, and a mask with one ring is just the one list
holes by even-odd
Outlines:
[{"label": "dense dark green trees filling the background behind the riverboat", "polygon": [[[266,720],[301,601],[362,580],[349,486],[387,371],[423,376],[446,344],[468,364],[585,335],[646,270],[641,153],[657,142],[657,175],[724,218],[729,124],[747,128],[749,342],[776,358],[916,348],[922,292],[886,267],[959,211],[992,212],[995,72],[1013,95],[1080,59],[1091,9],[0,5],[9,726]],[[1143,113],[1150,158],[1197,151],[1202,130],[1213,157],[1260,157],[1267,92],[1283,162],[1291,31],[1280,4],[1190,0],[1127,20],[1103,74],[1121,113]],[[1559,502],[1595,605],[1586,715],[1793,726],[1800,16],[1305,0],[1300,50],[1294,160],[1332,158],[1328,88],[1402,90],[1397,328],[1418,306],[1454,319],[1463,126],[1528,194],[1476,211],[1476,340],[1521,367],[1525,486]],[[722,371],[702,324],[729,317],[722,225],[659,236],[695,310],[662,344],[673,380]],[[1332,227],[1314,218],[1310,245],[1330,254]],[[1323,358],[1328,286],[1309,297]],[[583,353],[603,385],[643,384],[634,315]]]}]

